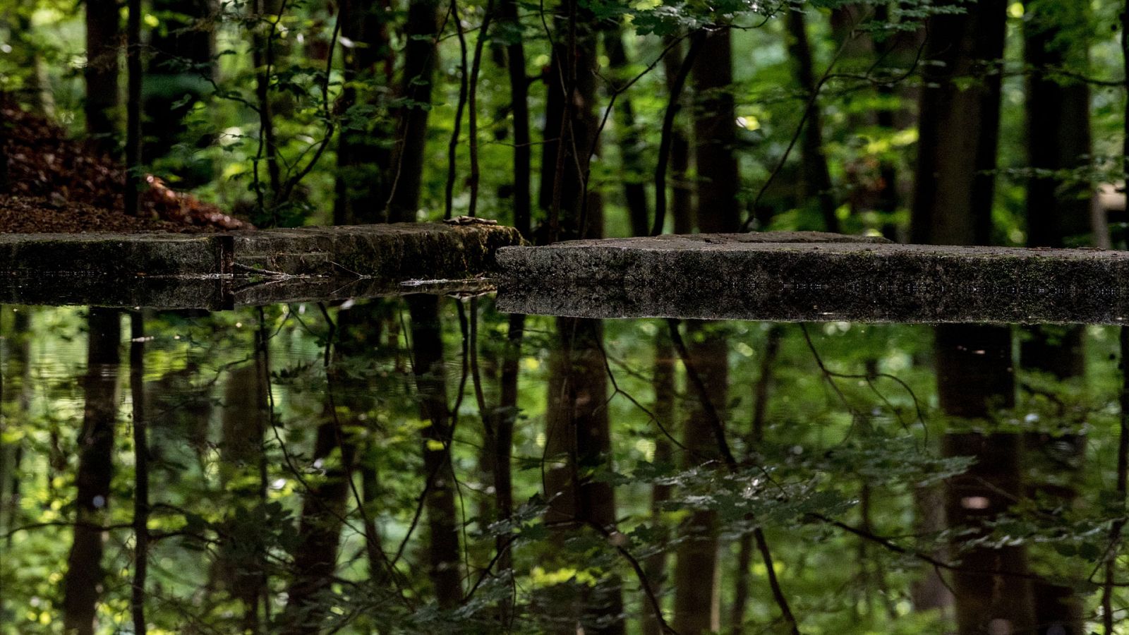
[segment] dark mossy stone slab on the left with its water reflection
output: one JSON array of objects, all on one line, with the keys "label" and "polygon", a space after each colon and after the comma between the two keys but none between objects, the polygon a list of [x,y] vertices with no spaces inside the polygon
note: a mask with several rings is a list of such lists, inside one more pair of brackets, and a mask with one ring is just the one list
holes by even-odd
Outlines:
[{"label": "dark mossy stone slab on the left with its water reflection", "polygon": [[395,224],[225,234],[0,234],[0,303],[222,308],[401,294],[410,279],[495,270],[520,243],[488,225]]}]

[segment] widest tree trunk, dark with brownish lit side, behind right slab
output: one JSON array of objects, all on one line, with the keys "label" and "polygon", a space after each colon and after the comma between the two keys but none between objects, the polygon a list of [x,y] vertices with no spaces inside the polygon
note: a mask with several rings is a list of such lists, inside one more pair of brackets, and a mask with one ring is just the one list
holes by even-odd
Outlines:
[{"label": "widest tree trunk, dark with brownish lit side, behind right slab", "polygon": [[929,18],[911,219],[914,243],[991,242],[1005,5],[979,0],[962,5],[966,12]]}]

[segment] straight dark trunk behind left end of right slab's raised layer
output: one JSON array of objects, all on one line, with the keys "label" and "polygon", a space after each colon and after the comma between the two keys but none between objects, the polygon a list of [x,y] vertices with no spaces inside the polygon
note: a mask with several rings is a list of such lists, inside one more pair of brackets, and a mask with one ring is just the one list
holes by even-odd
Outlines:
[{"label": "straight dark trunk behind left end of right slab's raised layer", "polygon": [[694,60],[694,142],[698,157],[698,228],[739,232],[741,175],[734,154],[733,53],[729,31],[708,35]]}]

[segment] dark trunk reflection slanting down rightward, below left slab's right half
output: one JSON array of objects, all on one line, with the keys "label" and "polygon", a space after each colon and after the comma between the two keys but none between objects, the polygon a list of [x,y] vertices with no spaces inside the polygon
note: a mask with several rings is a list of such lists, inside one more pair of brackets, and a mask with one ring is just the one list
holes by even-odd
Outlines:
[{"label": "dark trunk reflection slanting down rightward, below left slab's right half", "polygon": [[450,462],[450,410],[447,408],[447,379],[443,365],[443,332],[439,298],[428,295],[408,297],[412,315],[412,347],[415,354],[415,385],[423,428],[423,475],[430,533],[431,583],[439,606],[452,608],[463,599],[458,550],[458,516],[455,512],[455,471]]}]

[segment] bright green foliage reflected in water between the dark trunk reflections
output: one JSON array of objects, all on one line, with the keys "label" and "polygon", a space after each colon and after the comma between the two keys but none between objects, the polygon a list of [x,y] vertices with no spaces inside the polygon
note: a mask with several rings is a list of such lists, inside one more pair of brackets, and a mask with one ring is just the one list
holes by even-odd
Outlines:
[{"label": "bright green foliage reflected in water between the dark trunk reflections", "polygon": [[[303,501],[312,490],[332,482],[347,466],[336,450],[325,456],[314,455],[316,430],[327,417],[323,347],[330,329],[310,308],[292,305],[264,311],[262,325],[270,337],[275,428],[263,430],[261,441],[247,440],[252,444],[244,450],[221,437],[219,420],[230,407],[233,393],[228,388],[235,381],[234,372],[254,363],[257,315],[235,312],[187,319],[166,314],[148,320],[147,329],[154,339],[147,345],[146,382],[151,389],[147,391],[152,400],[150,410],[155,412],[150,423],[155,503],[149,524],[154,540],[148,609],[151,624],[176,630],[239,628],[245,610],[240,598],[247,597],[248,586],[263,584],[271,601],[281,602],[288,581],[301,573],[292,569],[292,554],[305,531],[298,521]],[[446,311],[453,311],[450,302]],[[340,315],[334,308],[327,314]],[[384,327],[399,322],[396,311],[373,314],[384,316]],[[11,332],[11,315],[7,308],[0,319],[6,338]],[[72,379],[82,372],[85,338],[78,331],[77,318],[77,312],[65,308],[34,311],[32,336],[36,343],[28,359],[30,380],[24,384],[29,390],[26,407],[12,400],[12,391],[20,385],[14,379],[17,365],[6,357],[2,367],[5,426],[0,429],[0,447],[18,444],[24,452],[18,511],[15,515],[0,513],[0,538],[6,541],[6,566],[0,567],[6,611],[2,633],[46,633],[60,619],[58,589],[64,572],[59,567],[65,557],[68,523],[73,515],[75,460],[68,458],[73,456],[73,421],[80,416],[82,400]],[[485,307],[480,319],[484,388],[493,391],[489,359],[496,357],[489,348],[492,333],[499,332],[498,323],[505,318]],[[458,346],[462,334],[456,320],[448,324],[445,337],[453,353],[447,372],[457,380],[463,372]],[[465,540],[467,599],[449,610],[439,609],[429,599],[423,564],[426,527],[406,534],[420,504],[425,475],[419,458],[419,429],[423,424],[414,403],[414,382],[408,375],[410,366],[402,365],[406,355],[404,333],[390,340],[384,332],[370,340],[367,354],[344,362],[340,376],[348,381],[338,384],[342,392],[334,399],[338,417],[348,421],[341,428],[343,438],[365,449],[348,463],[358,470],[355,482],[358,493],[365,495],[365,513],[350,494],[341,516],[336,573],[313,595],[316,606],[326,608],[326,628],[365,633],[395,624],[397,632],[404,633],[491,632],[498,607],[510,606],[508,615],[515,632],[539,632],[567,623],[570,614],[564,607],[581,598],[592,601],[601,597],[615,588],[607,586],[613,580],[624,585],[629,615],[638,616],[647,610],[647,603],[638,593],[641,582],[631,563],[673,554],[692,540],[675,529],[690,522],[693,512],[704,510],[717,513],[723,554],[733,554],[742,536],[754,528],[764,530],[781,584],[805,628],[843,632],[861,623],[889,633],[938,628],[930,621],[933,617],[908,615],[898,602],[922,571],[922,558],[934,557],[935,546],[965,531],[970,539],[961,550],[942,558],[946,566],[962,566],[962,558],[977,547],[1025,545],[1032,553],[1034,571],[1061,583],[1082,584],[1082,597],[1095,601],[1095,595],[1088,594],[1094,588],[1083,581],[1104,557],[1110,519],[1124,513],[1123,503],[1109,492],[1114,440],[1102,434],[1115,425],[1102,412],[1112,408],[1117,388],[1105,360],[1113,339],[1104,329],[1093,329],[1089,365],[1095,377],[1102,379],[1092,382],[1089,390],[1078,391],[1070,383],[1031,374],[1024,381],[1038,390],[1000,417],[1022,419],[1021,412],[1039,412],[1041,420],[1049,420],[1061,408],[1091,414],[1085,420],[1092,459],[1079,466],[1085,485],[1078,490],[1078,504],[1056,511],[1047,506],[1049,499],[1034,496],[974,531],[949,528],[914,536],[909,524],[913,492],[963,472],[970,460],[938,456],[920,426],[905,428],[896,423],[890,414],[892,407],[912,408],[904,389],[887,383],[881,384],[876,393],[865,381],[840,379],[848,400],[843,402],[821,376],[802,331],[785,327],[774,368],[774,385],[780,388],[771,397],[767,438],[755,453],[749,453],[747,462],[729,470],[716,462],[679,467],[656,461],[655,443],[660,433],[650,415],[627,399],[630,394],[639,403],[649,401],[650,353],[641,343],[646,340],[638,336],[657,333],[663,327],[649,321],[607,324],[606,346],[613,359],[610,367],[623,394],[607,405],[615,421],[614,464],[597,469],[593,476],[614,484],[620,499],[619,527],[606,532],[587,525],[546,523],[548,504],[540,494],[545,401],[539,377],[544,374],[544,350],[535,337],[546,327],[531,319],[532,333],[520,360],[522,416],[516,425],[515,466],[524,469],[515,471],[519,504],[508,521],[493,519],[489,512],[491,490],[489,478],[481,471],[479,412],[473,398],[463,400],[453,459]],[[727,330],[733,356],[730,382],[736,394],[736,386],[753,385],[756,380],[767,325],[732,324]],[[809,328],[825,367],[843,375],[865,375],[869,364],[894,374],[926,405],[926,419],[930,428],[936,428],[942,417],[928,406],[934,402],[930,382],[904,359],[927,350],[919,338],[921,332],[916,327]],[[393,347],[390,341],[399,343]],[[680,408],[688,405],[688,399],[692,395],[677,395]],[[727,409],[727,432],[734,438],[747,432],[750,408],[747,399],[743,399]],[[122,412],[126,411],[128,402],[122,403]],[[860,416],[866,418],[865,425]],[[675,430],[680,427],[677,421],[666,424]],[[123,415],[120,430],[125,425]],[[243,458],[235,458],[244,452]],[[681,451],[675,452],[681,455]],[[131,456],[128,435],[119,434],[111,515],[106,520],[111,529],[105,562],[114,575],[123,571],[128,574],[132,558],[128,503],[132,495]],[[360,470],[375,475],[378,488],[373,496],[364,490],[369,485]],[[656,484],[673,486],[673,495],[651,515],[646,493]],[[868,489],[868,515],[859,520],[864,486]],[[400,542],[405,542],[391,577],[373,574],[383,569],[371,568],[368,560],[366,517],[376,528],[375,539],[387,558],[395,558]],[[855,532],[826,519],[846,523]],[[867,532],[873,539],[863,538]],[[513,555],[511,569],[499,567],[499,538]],[[863,563],[846,555],[855,553],[860,540],[869,543],[863,569],[858,568]],[[723,589],[734,575],[730,559],[723,557]],[[870,572],[866,574],[869,577],[860,571]],[[874,577],[876,571],[882,572],[881,581]],[[767,588],[761,586],[763,571],[756,565],[753,584],[754,608],[749,615],[771,615],[773,603]],[[878,585],[881,593],[892,594],[893,614],[877,609],[859,612],[840,593],[850,588],[858,598],[875,600]],[[669,586],[659,589],[658,600],[667,601]],[[105,624],[114,624],[125,615],[128,595],[128,584],[107,585],[100,608]],[[275,604],[273,614],[279,619],[281,604]],[[282,626],[274,623],[271,628]]]}]

